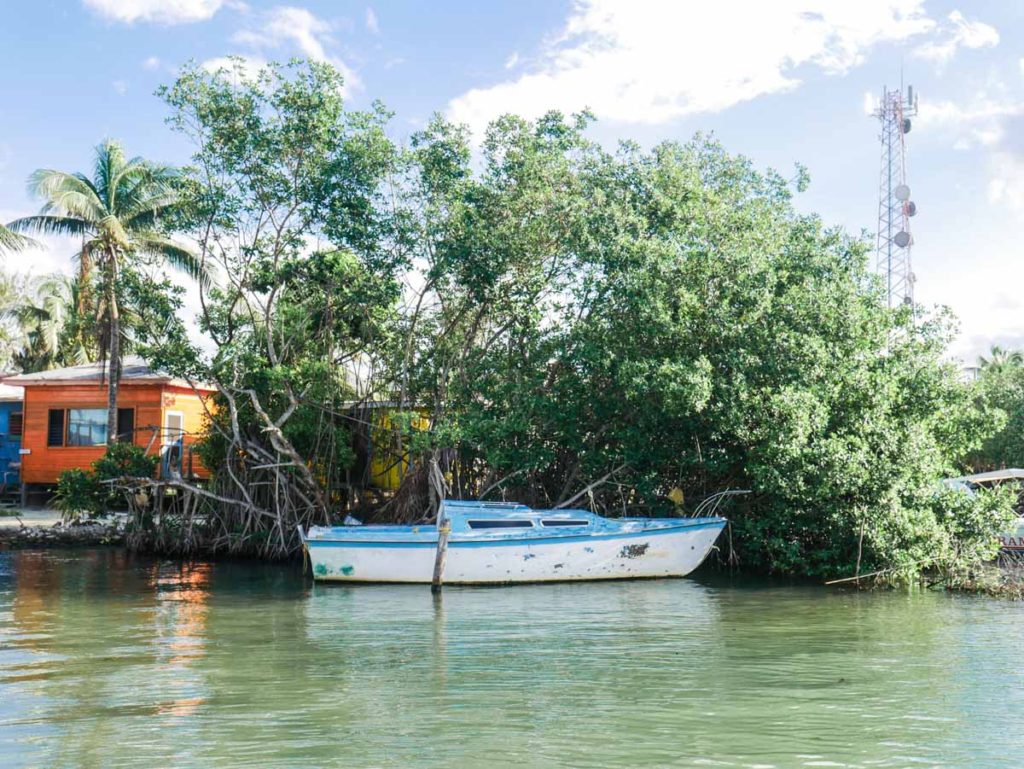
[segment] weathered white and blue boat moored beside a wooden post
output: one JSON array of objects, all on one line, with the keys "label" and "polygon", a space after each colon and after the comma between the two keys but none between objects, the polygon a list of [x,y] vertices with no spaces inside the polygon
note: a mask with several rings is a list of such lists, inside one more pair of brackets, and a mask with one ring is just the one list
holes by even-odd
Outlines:
[{"label": "weathered white and blue boat moored beside a wooden post", "polygon": [[[725,518],[602,518],[489,502],[443,503],[445,584],[684,576],[711,552]],[[430,583],[437,526],[312,526],[302,542],[313,578]]]}]

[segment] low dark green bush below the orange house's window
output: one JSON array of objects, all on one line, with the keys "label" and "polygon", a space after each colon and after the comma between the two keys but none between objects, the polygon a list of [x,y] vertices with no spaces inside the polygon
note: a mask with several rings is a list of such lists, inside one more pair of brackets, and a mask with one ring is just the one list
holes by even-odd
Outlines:
[{"label": "low dark green bush below the orange house's window", "polygon": [[60,473],[54,504],[66,521],[101,518],[124,507],[124,498],[114,484],[128,478],[152,478],[157,457],[133,443],[111,443],[90,470],[72,468]]}]

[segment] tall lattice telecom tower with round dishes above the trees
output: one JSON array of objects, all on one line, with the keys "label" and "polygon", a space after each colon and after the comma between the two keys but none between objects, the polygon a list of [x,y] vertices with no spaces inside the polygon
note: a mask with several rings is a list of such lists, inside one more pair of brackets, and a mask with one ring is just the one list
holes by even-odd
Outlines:
[{"label": "tall lattice telecom tower with round dishes above the trees", "polygon": [[899,90],[884,88],[882,101],[874,112],[882,124],[882,176],[879,183],[879,238],[876,266],[886,279],[889,306],[913,306],[914,275],[910,268],[910,217],[918,207],[910,200],[906,181],[906,134],[910,118],[918,115],[918,97],[913,86],[903,92],[900,73]]}]

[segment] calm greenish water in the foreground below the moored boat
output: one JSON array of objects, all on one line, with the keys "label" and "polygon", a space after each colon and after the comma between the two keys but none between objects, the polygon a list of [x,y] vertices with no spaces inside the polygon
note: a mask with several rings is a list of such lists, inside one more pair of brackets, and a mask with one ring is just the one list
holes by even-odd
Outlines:
[{"label": "calm greenish water in the foreground below the moored boat", "polygon": [[0,553],[2,767],[1016,767],[1024,605]]}]

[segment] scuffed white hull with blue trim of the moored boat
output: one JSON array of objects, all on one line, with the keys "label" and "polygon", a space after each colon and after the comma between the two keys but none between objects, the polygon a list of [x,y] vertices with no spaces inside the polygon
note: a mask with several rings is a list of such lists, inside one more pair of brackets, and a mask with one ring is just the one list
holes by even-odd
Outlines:
[{"label": "scuffed white hull with blue trim of the moored boat", "polygon": [[[613,535],[504,542],[452,541],[444,583],[502,585],[685,576],[708,556],[725,521]],[[306,542],[313,578],[326,582],[429,583],[433,542]]]}]

